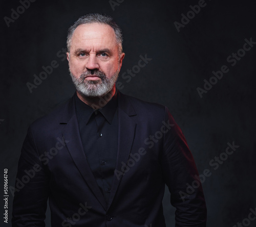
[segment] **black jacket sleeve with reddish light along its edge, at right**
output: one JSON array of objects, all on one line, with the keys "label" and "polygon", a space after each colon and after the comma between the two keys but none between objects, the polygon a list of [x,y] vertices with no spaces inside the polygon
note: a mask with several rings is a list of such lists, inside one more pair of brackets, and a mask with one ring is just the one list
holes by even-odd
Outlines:
[{"label": "black jacket sleeve with reddish light along its edge, at right", "polygon": [[176,208],[176,227],[206,226],[206,204],[194,158],[180,128],[165,108],[165,134],[161,157],[170,203]]}]

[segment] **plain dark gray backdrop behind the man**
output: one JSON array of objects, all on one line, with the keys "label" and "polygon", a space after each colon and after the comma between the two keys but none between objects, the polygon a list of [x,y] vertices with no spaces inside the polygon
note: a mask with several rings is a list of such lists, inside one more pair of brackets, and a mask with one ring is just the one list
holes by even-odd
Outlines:
[{"label": "plain dark gray backdrop behind the man", "polygon": [[[203,183],[207,226],[231,227],[248,218],[249,209],[256,207],[256,46],[234,66],[227,57],[243,47],[244,39],[256,41],[256,4],[205,3],[180,32],[174,22],[181,22],[181,14],[198,1],[125,0],[114,11],[109,1],[35,1],[9,28],[3,18],[10,17],[11,9],[16,10],[20,3],[2,3],[0,119],[4,121],[0,120],[0,156],[1,171],[8,168],[9,186],[15,184],[28,125],[74,93],[68,62],[57,56],[66,47],[68,28],[79,16],[99,12],[113,16],[123,30],[125,58],[120,75],[137,65],[140,55],[152,58],[129,83],[119,78],[124,85],[121,92],[166,105],[187,139],[199,173],[211,171]],[[30,93],[26,83],[33,83],[33,75],[53,60],[59,66]],[[200,98],[197,87],[203,88],[203,80],[209,81],[212,70],[220,70],[223,65],[229,72]],[[233,141],[240,147],[214,170],[210,160],[219,157]],[[3,180],[1,185],[3,188]],[[5,224],[1,216],[1,226],[11,226],[9,195],[9,223]],[[2,204],[3,200],[3,212]],[[167,226],[174,226],[175,210],[169,205],[168,193],[163,205]],[[256,226],[256,220],[250,226]]]}]

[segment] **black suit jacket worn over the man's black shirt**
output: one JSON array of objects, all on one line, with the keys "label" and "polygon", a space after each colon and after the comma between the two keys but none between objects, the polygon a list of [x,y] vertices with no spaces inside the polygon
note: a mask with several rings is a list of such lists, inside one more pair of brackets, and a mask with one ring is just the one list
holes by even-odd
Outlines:
[{"label": "black suit jacket worn over the man's black shirt", "polygon": [[[118,93],[118,154],[106,203],[87,163],[74,97],[28,129],[18,163],[12,226],[165,226],[165,184],[177,208],[176,226],[205,226],[202,187],[184,136],[167,108]],[[88,138],[90,139],[90,138]]]}]

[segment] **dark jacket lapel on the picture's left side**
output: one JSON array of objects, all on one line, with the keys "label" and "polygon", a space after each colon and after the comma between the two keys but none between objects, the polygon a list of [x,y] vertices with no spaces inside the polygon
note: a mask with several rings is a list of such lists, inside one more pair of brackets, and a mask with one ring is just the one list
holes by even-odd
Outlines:
[{"label": "dark jacket lapel on the picture's left side", "polygon": [[99,189],[99,186],[97,185],[92,170],[87,162],[86,155],[83,151],[78,121],[75,113],[74,97],[68,104],[67,109],[67,112],[64,111],[63,113],[68,114],[63,115],[60,122],[61,124],[67,124],[62,131],[62,135],[65,140],[69,141],[69,143],[67,143],[67,148],[83,179],[87,182],[95,197],[99,200],[102,207],[106,210],[106,201]]}]

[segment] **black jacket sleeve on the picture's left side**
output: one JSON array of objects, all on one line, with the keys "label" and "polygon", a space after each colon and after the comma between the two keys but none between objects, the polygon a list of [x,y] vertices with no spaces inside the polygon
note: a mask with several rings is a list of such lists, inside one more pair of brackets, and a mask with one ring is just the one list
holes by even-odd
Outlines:
[{"label": "black jacket sleeve on the picture's left side", "polygon": [[32,131],[23,143],[18,162],[12,227],[45,226],[49,179],[37,152]]}]

